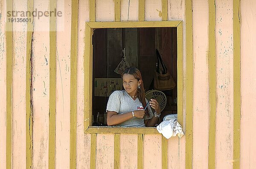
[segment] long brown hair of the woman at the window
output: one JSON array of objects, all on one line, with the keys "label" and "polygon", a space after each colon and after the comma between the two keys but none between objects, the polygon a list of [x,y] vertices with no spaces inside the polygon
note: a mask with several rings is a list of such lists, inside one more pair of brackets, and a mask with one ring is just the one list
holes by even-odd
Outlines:
[{"label": "long brown hair of the woman at the window", "polygon": [[[122,73],[122,77],[124,74],[131,74],[135,77],[135,79],[137,79],[138,81],[139,80],[141,81],[140,89],[139,88],[137,89],[137,96],[138,96],[138,99],[140,100],[140,102],[142,103],[143,107],[145,107],[146,106],[145,90],[144,90],[144,85],[143,85],[143,80],[142,80],[140,70],[137,68],[127,68]],[[145,110],[145,115],[149,116],[148,107]]]}]

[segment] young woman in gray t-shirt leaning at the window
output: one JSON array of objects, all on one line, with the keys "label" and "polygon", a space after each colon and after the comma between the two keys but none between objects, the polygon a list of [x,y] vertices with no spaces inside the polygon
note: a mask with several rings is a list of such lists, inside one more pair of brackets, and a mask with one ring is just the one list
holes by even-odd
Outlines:
[{"label": "young woman in gray t-shirt leaning at the window", "polygon": [[140,70],[126,69],[122,73],[122,81],[125,90],[114,91],[108,99],[108,126],[154,127],[161,110],[155,99],[150,99],[147,104]]}]

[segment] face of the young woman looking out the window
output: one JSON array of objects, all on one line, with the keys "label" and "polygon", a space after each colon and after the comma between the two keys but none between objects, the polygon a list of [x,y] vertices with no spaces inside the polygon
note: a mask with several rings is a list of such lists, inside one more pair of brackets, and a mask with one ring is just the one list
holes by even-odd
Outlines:
[{"label": "face of the young woman looking out the window", "polygon": [[122,80],[125,91],[130,96],[135,96],[137,94],[138,85],[140,85],[140,80],[138,81],[133,75],[127,73],[123,74]]}]

